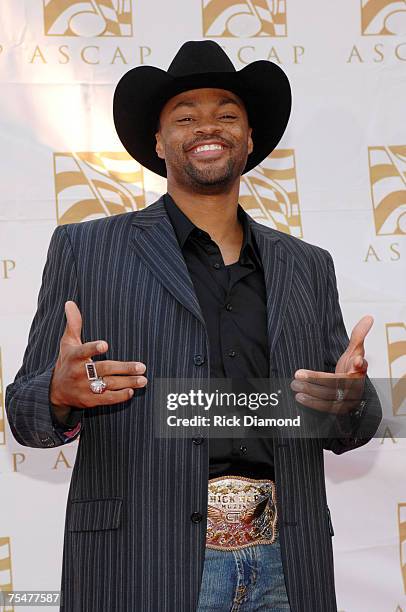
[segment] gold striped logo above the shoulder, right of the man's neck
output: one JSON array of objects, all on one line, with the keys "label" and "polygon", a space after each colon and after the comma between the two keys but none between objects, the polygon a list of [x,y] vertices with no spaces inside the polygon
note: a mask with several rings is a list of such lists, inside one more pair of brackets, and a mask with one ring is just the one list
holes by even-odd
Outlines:
[{"label": "gold striped logo above the shoulder, right of the man's neck", "polygon": [[240,202],[259,223],[303,236],[293,149],[276,149],[241,178]]}]

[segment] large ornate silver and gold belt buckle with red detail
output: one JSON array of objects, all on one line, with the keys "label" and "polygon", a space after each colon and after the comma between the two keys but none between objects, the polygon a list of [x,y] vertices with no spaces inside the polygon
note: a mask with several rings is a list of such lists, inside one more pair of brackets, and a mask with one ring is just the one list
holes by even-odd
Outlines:
[{"label": "large ornate silver and gold belt buckle with red detail", "polygon": [[272,544],[277,534],[275,483],[242,476],[209,480],[206,546],[238,550]]}]

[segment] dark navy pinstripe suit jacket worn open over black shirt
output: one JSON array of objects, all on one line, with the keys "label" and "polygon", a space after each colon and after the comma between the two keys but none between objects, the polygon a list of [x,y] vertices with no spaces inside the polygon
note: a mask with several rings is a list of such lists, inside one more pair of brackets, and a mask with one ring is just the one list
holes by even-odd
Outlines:
[{"label": "dark navy pinstripe suit jacket worn open over black shirt", "polygon": [[[250,223],[264,266],[270,376],[332,370],[348,337],[331,256]],[[49,384],[68,299],[82,312],[84,340],[108,341],[105,358],[143,361],[149,380],[208,377],[205,322],[163,200],[136,213],[58,227],[23,365],[7,389],[9,422],[21,444],[64,443],[51,418]],[[203,364],[197,354],[206,356]],[[206,523],[191,515],[204,516],[207,508],[208,442],[156,438],[152,403],[147,386],[125,404],[80,413],[65,527],[66,611],[196,609]],[[323,446],[341,453],[366,441],[274,444],[292,612],[336,610]]]}]

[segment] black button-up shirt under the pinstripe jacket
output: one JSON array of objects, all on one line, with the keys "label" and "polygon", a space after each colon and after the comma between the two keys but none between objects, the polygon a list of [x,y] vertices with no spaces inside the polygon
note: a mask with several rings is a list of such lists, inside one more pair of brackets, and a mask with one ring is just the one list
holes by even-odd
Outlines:
[{"label": "black button-up shirt under the pinstripe jacket", "polygon": [[[238,206],[244,237],[237,262],[224,265],[210,235],[196,227],[169,194],[165,207],[193,281],[209,339],[212,378],[268,378],[264,274],[247,214]],[[274,478],[272,440],[211,438],[209,475]]]}]

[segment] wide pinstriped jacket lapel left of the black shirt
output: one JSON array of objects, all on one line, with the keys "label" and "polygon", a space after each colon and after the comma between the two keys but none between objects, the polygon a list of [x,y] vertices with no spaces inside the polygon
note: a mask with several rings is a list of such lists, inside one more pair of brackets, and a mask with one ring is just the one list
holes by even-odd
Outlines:
[{"label": "wide pinstriped jacket lapel left of the black shirt", "polygon": [[152,274],[205,325],[163,198],[134,215],[131,243]]}]

